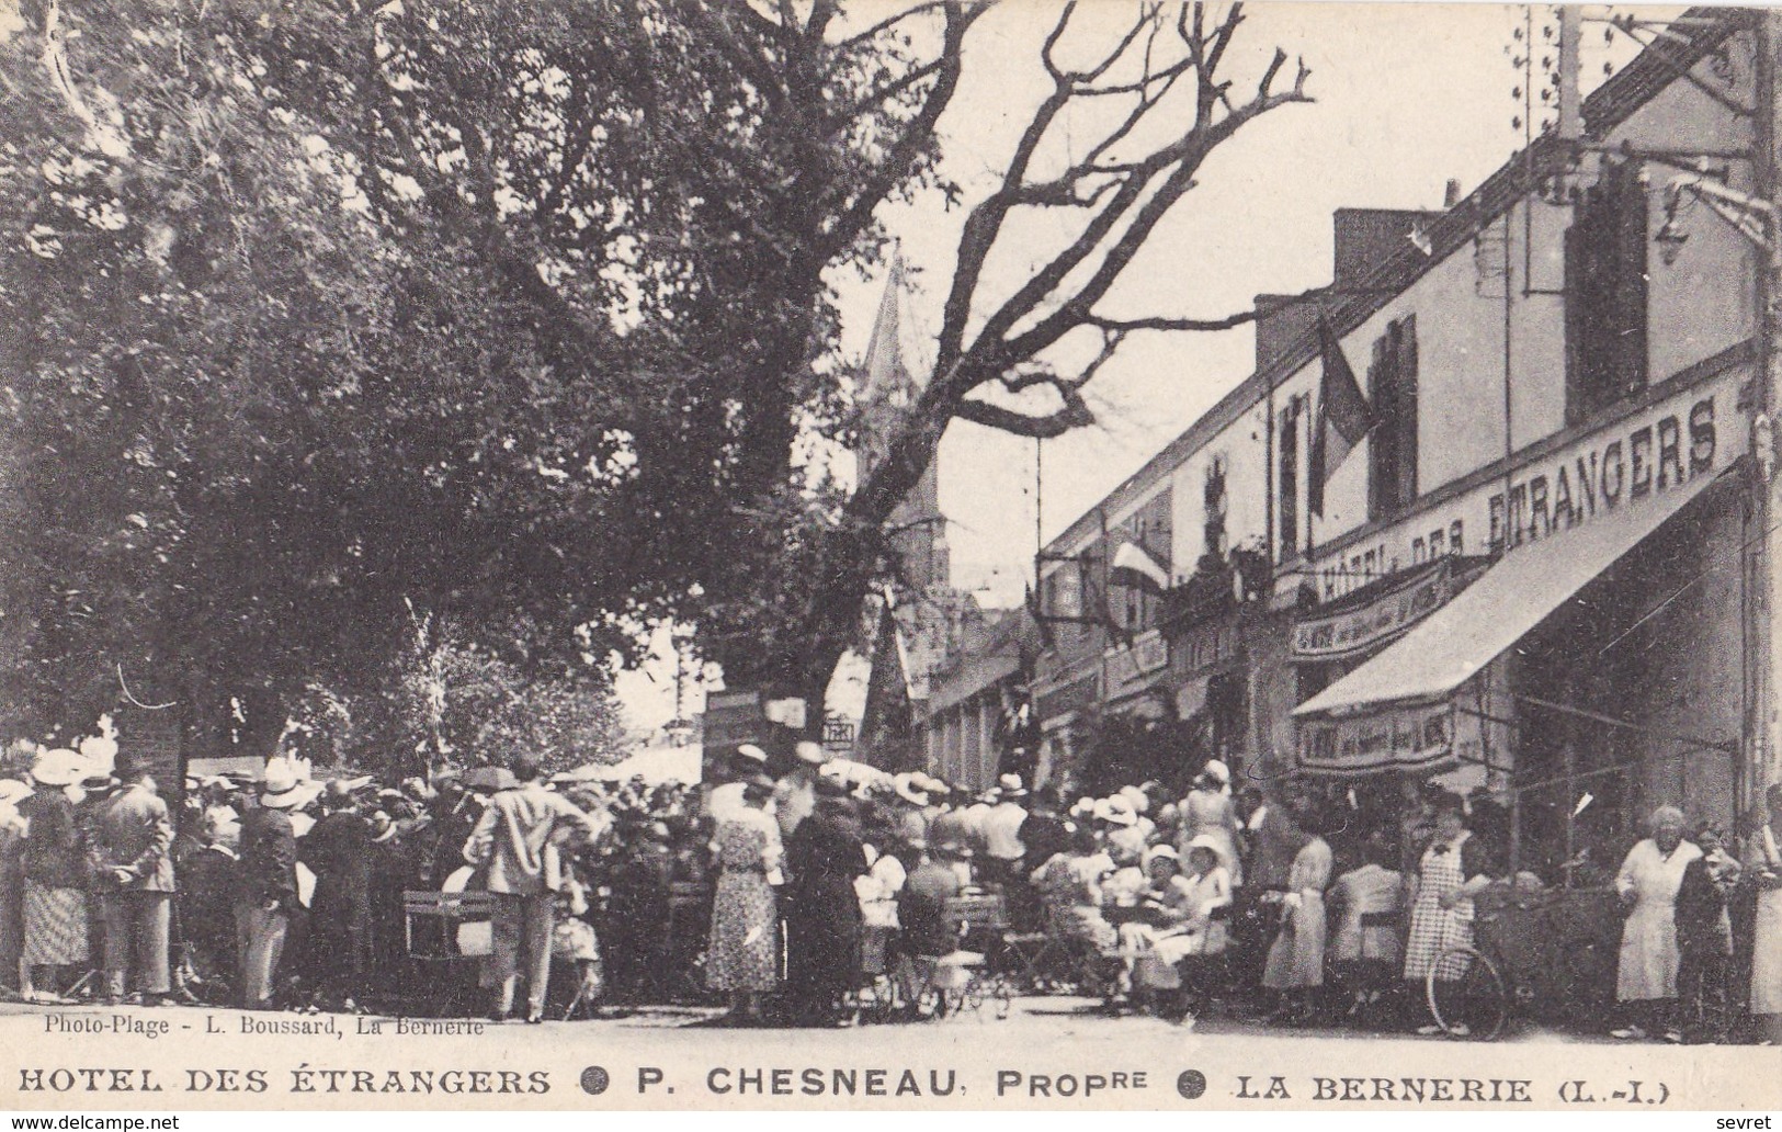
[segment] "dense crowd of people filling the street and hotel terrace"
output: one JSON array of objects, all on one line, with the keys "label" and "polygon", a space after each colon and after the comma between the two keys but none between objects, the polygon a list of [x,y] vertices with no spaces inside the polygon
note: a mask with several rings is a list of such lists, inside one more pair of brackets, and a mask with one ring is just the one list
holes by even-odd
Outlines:
[{"label": "dense crowd of people filling the street and hotel terrace", "polygon": [[[1181,797],[1142,783],[1071,802],[1018,774],[966,793],[816,743],[743,745],[722,777],[552,783],[520,758],[383,784],[280,756],[257,781],[191,779],[169,808],[128,752],[41,751],[0,779],[0,975],[52,1004],[527,1021],[563,997],[704,991],[734,1025],[822,1027],[875,980],[909,982],[914,1009],[966,943],[959,898],[993,893],[1005,939],[989,943],[1055,950],[1026,975],[1094,986],[1108,1009],[1192,1021],[1217,997],[1281,1023],[1433,1029],[1424,984],[1465,975],[1447,948],[1472,941],[1481,893],[1538,884],[1504,877],[1483,797],[1429,784],[1395,820],[1358,822],[1313,792],[1233,792],[1219,759]],[[1650,815],[1609,882],[1616,1036],[1720,1041],[1750,1018],[1777,1039],[1782,790],[1766,804],[1741,845]],[[417,891],[486,893],[483,945],[458,929],[462,979],[413,954]]]}]

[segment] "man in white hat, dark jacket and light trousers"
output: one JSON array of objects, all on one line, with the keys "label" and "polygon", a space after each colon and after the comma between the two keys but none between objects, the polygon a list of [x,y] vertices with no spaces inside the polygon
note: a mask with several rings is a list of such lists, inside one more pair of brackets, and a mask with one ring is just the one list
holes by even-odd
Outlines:
[{"label": "man in white hat, dark jacket and light trousers", "polygon": [[235,874],[235,947],[241,964],[241,1005],[273,1005],[278,963],[285,954],[290,915],[298,907],[298,834],[290,811],[310,800],[298,774],[271,761],[260,804],[241,820],[241,868]]}]

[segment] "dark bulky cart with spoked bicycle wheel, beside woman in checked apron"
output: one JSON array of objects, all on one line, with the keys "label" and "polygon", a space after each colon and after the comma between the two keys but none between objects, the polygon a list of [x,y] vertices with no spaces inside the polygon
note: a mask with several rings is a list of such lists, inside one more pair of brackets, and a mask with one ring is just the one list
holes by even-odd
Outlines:
[{"label": "dark bulky cart with spoked bicycle wheel, beside woman in checked apron", "polygon": [[1474,906],[1475,943],[1442,948],[1424,977],[1449,1038],[1495,1041],[1516,1014],[1604,1016],[1620,948],[1613,891],[1493,886]]}]

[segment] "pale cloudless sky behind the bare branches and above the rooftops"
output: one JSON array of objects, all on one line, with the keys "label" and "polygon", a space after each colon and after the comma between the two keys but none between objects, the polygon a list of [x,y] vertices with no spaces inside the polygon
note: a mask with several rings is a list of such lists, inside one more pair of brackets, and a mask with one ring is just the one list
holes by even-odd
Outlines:
[{"label": "pale cloudless sky behind the bare branches and above the rooftops", "polygon": [[[854,20],[889,12],[886,4],[850,7]],[[1007,0],[966,39],[966,66],[953,105],[941,119],[943,171],[960,184],[966,205],[982,200],[1005,168],[1014,139],[1050,80],[1039,46],[1060,4]],[[1121,0],[1087,0],[1071,37],[1078,50],[1112,43],[1132,14]],[[1119,316],[1217,317],[1246,310],[1262,292],[1299,292],[1331,278],[1331,214],[1342,207],[1440,209],[1449,180],[1470,193],[1524,144],[1522,70],[1511,62],[1513,30],[1525,9],[1499,4],[1253,4],[1228,70],[1244,91],[1274,48],[1312,68],[1310,105],[1287,105],[1253,121],[1203,166],[1190,191],[1128,267],[1101,310]],[[1598,12],[1604,9],[1597,9]],[[1556,27],[1554,9],[1533,9]],[[1586,25],[1586,91],[1606,62],[1632,55],[1625,37],[1604,43]],[[1540,57],[1540,55],[1538,55]],[[1290,82],[1292,62],[1283,73]],[[1091,144],[1067,137],[1066,144]],[[941,303],[952,282],[964,209],[930,196],[884,207],[880,217],[907,262],[903,335],[914,358],[932,358]],[[1057,228],[1026,226],[987,273],[1007,294]],[[836,273],[843,351],[861,360],[882,294],[880,280]],[[1255,337],[1140,333],[1089,387],[1098,422],[1044,442],[1039,531],[1051,538],[1180,435],[1221,396],[1249,376]],[[1035,551],[1035,442],[955,421],[941,444],[939,492],[948,517],[953,585],[985,604],[1021,601]],[[672,663],[624,674],[627,715],[659,722],[672,715],[665,692]],[[666,697],[672,701],[672,695]]]}]

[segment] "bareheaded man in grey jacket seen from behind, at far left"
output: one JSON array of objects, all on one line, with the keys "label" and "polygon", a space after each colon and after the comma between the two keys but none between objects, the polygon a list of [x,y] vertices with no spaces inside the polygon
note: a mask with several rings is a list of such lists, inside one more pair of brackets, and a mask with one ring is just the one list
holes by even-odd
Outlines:
[{"label": "bareheaded man in grey jacket seen from behind, at far left", "polygon": [[130,943],[135,982],[146,1004],[171,989],[168,927],[173,911],[173,818],[148,768],[123,772],[125,788],[94,815],[93,857],[105,916],[105,995],[128,989]]}]

